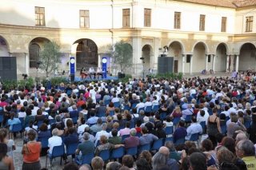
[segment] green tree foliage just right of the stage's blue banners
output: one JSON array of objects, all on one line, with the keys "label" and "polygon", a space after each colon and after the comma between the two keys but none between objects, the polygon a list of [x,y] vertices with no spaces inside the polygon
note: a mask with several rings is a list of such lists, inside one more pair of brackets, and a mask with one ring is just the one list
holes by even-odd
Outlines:
[{"label": "green tree foliage just right of the stage's blue banners", "polygon": [[114,50],[112,49],[112,57],[114,58],[114,63],[120,65],[121,71],[124,72],[132,65],[133,48],[126,42],[117,42],[114,45]]}]

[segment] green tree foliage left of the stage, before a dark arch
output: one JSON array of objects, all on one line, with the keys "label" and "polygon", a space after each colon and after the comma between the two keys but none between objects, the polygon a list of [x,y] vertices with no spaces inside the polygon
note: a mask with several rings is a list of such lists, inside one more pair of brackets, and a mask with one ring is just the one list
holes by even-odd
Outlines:
[{"label": "green tree foliage left of the stage, before a dark arch", "polygon": [[39,68],[46,72],[46,77],[58,69],[61,59],[60,46],[56,42],[45,42],[39,54]]}]

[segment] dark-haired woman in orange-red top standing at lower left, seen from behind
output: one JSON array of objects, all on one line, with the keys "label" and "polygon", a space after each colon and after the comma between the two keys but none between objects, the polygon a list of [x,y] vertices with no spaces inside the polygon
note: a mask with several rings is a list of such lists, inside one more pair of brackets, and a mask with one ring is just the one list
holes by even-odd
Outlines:
[{"label": "dark-haired woman in orange-red top standing at lower left, seen from behind", "polygon": [[35,140],[36,132],[31,129],[28,133],[28,143],[23,145],[23,164],[22,170],[38,170],[41,169],[40,152],[41,142]]}]

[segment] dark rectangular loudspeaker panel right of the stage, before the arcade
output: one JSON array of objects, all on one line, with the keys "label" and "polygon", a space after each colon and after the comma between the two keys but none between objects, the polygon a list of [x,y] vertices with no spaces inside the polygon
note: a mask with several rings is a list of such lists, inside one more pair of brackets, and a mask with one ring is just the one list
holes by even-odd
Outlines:
[{"label": "dark rectangular loudspeaker panel right of the stage, before the arcade", "polygon": [[158,57],[158,73],[174,73],[174,57]]}]

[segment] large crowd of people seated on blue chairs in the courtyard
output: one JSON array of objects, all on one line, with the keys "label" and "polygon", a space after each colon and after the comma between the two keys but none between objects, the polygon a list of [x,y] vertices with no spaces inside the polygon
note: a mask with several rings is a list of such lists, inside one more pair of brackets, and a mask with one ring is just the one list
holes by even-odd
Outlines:
[{"label": "large crowd of people seated on blue chairs in the courtyard", "polygon": [[0,169],[14,169],[19,132],[27,170],[62,148],[63,169],[256,169],[255,78],[2,87]]}]

